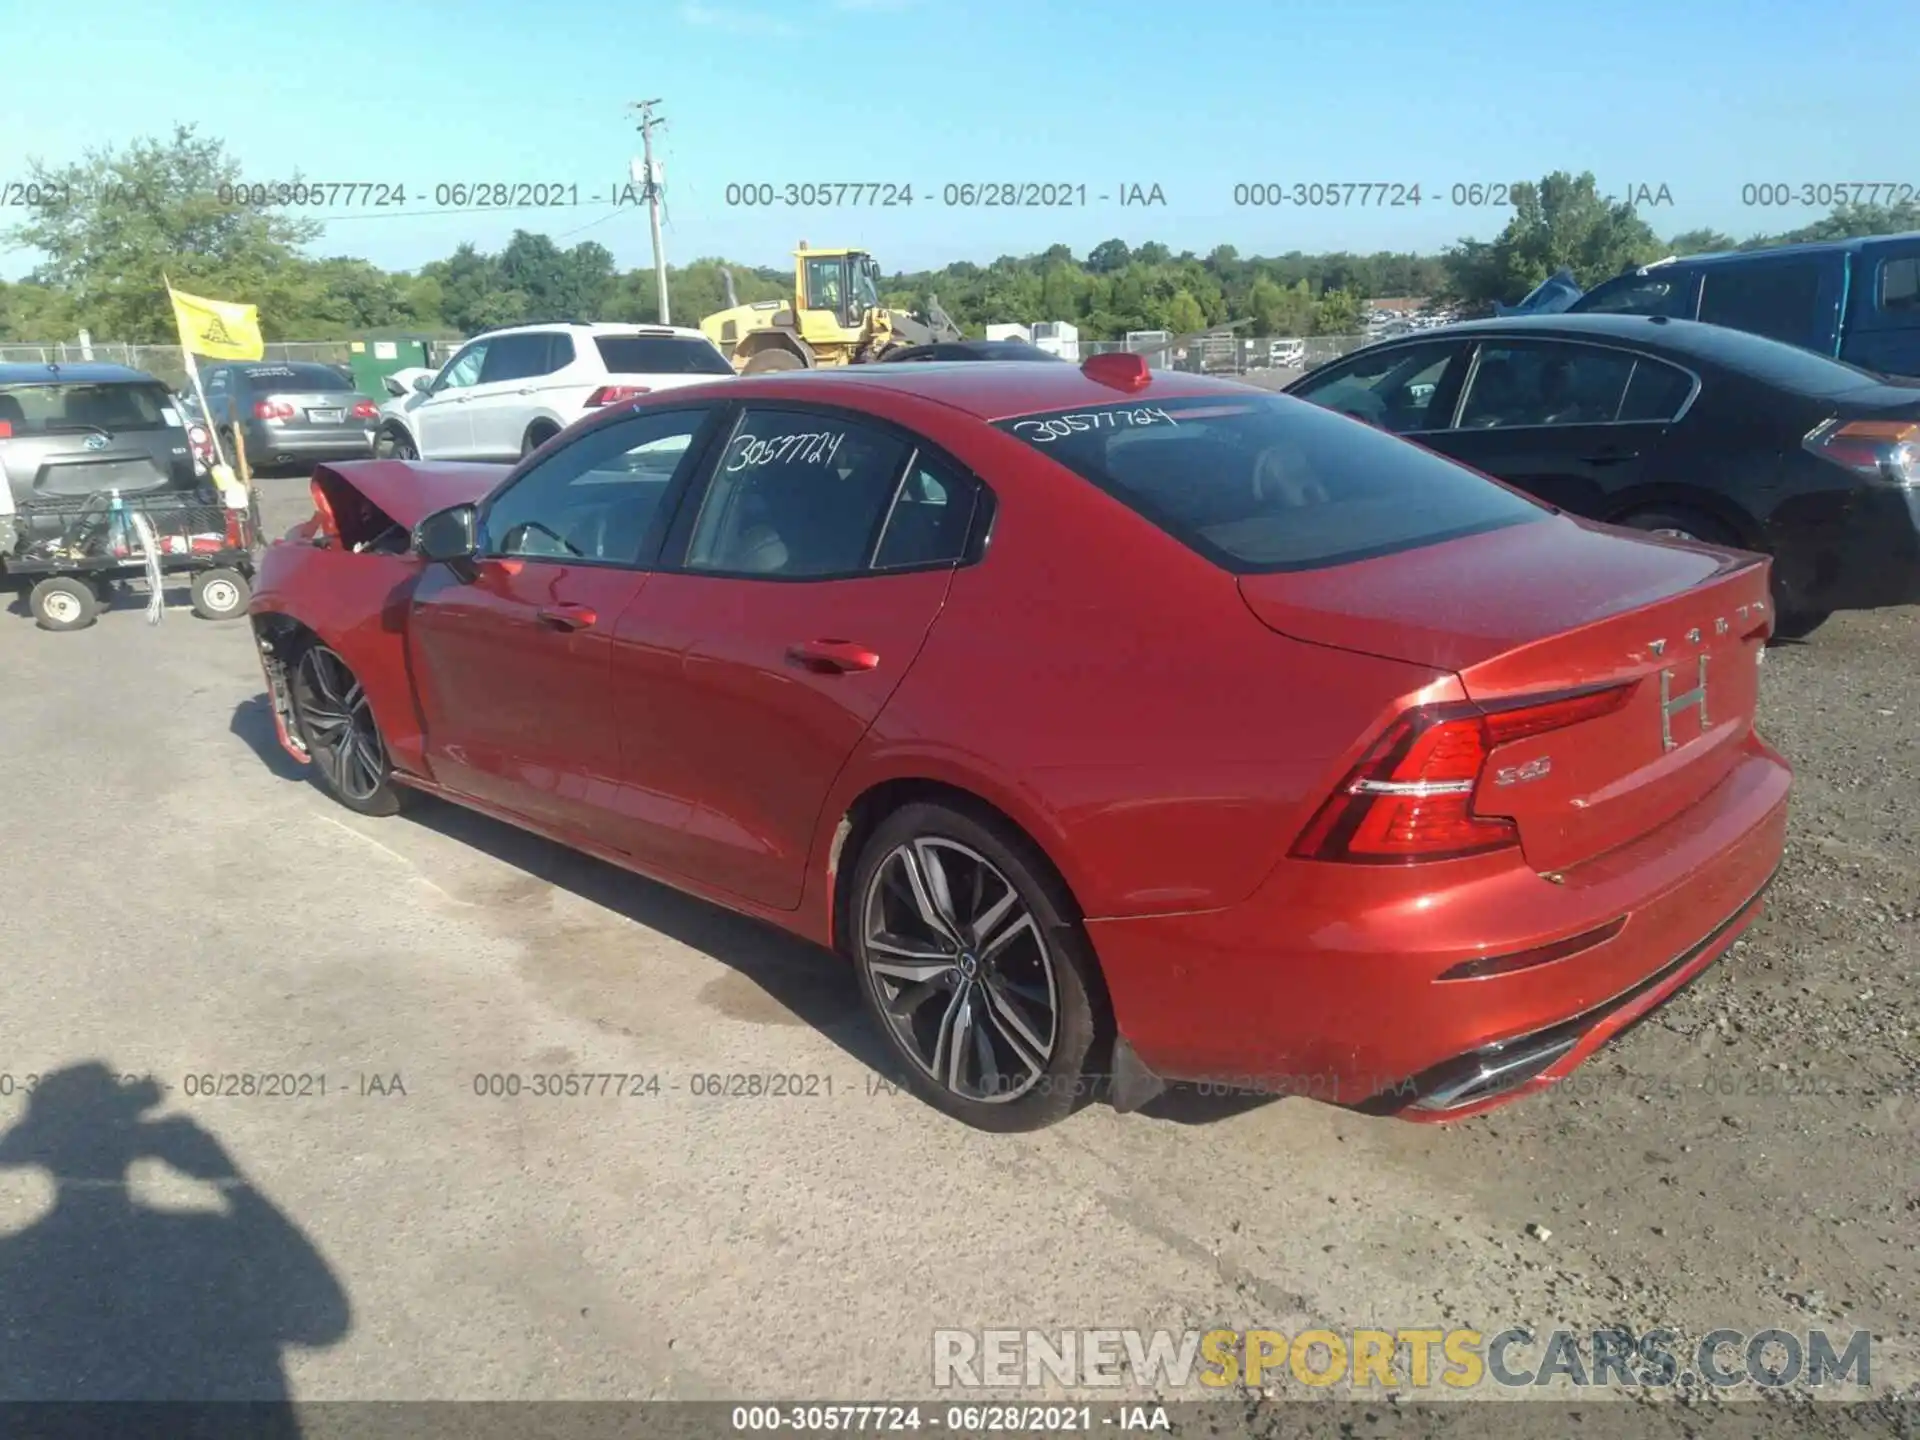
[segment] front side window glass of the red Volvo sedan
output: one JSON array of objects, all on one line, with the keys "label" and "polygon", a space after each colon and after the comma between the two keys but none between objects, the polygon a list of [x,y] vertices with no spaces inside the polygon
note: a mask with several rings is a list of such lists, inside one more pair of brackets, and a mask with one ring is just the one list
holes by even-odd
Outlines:
[{"label": "front side window glass of the red Volvo sedan", "polygon": [[707,411],[637,415],[564,445],[486,513],[486,553],[634,564]]}]

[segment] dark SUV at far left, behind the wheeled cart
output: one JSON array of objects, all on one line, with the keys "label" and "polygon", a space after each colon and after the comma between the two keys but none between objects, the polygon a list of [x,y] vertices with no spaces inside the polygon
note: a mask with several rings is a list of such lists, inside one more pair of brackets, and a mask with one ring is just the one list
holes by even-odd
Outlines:
[{"label": "dark SUV at far left, behind the wheeled cart", "polygon": [[0,365],[0,478],[17,513],[36,499],[196,490],[188,417],[165,384],[125,365]]}]

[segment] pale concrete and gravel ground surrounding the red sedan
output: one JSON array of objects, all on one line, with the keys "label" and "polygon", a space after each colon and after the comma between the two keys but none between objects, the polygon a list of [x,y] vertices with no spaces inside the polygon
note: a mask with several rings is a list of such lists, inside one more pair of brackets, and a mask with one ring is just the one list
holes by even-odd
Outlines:
[{"label": "pale concrete and gravel ground surrounding the red sedan", "polygon": [[[303,488],[265,493],[278,534]],[[273,747],[242,626],[15,609],[0,1127],[86,1062],[156,1075],[177,1119],[77,1094],[0,1140],[0,1398],[925,1396],[935,1327],[998,1325],[1824,1325],[1910,1390],[1916,659],[1920,611],[1772,651],[1799,785],[1766,914],[1559,1091],[1440,1129],[1177,1096],[993,1139],[876,1083],[806,947],[449,806],[330,804]],[[682,1083],[472,1089],[543,1069]],[[684,1083],[743,1069],[833,1094]],[[186,1092],[236,1071],[330,1091]],[[46,1156],[84,1204],[50,1213]],[[182,1171],[257,1204],[127,1208],[198,1194]]]}]

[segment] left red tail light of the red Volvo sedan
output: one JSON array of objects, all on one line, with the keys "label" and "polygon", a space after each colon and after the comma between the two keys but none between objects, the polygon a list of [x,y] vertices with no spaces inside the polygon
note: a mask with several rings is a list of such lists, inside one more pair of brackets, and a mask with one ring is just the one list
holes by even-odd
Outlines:
[{"label": "left red tail light of the red Volvo sedan", "polygon": [[1294,843],[1306,860],[1413,864],[1521,843],[1511,820],[1473,812],[1496,747],[1626,705],[1634,685],[1546,695],[1498,708],[1427,705],[1386,728]]}]

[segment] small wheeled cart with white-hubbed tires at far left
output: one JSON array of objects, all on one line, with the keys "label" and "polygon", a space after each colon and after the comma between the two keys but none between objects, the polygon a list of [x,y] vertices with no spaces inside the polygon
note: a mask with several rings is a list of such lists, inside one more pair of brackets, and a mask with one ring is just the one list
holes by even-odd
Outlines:
[{"label": "small wheeled cart with white-hubbed tires at far left", "polygon": [[186,576],[194,612],[207,620],[236,620],[253,599],[259,501],[252,495],[248,509],[227,507],[211,488],[38,497],[13,515],[13,532],[0,582],[27,591],[42,630],[84,630],[127,580],[152,588],[156,576],[161,586]]}]

